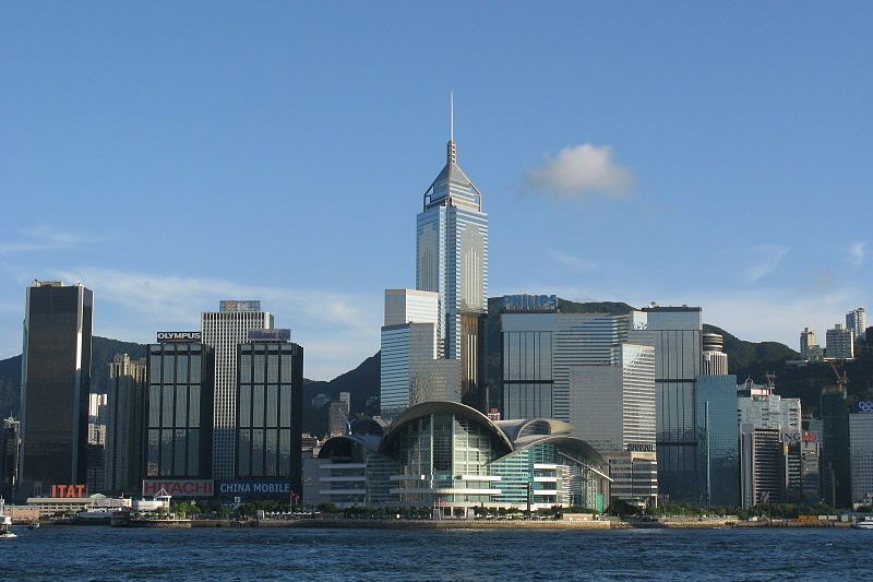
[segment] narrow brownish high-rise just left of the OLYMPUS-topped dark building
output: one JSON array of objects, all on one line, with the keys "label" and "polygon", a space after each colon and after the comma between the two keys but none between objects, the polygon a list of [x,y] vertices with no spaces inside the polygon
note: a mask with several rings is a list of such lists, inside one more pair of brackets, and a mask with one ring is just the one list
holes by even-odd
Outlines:
[{"label": "narrow brownish high-rise just left of the OLYMPUS-topped dark building", "polygon": [[109,363],[106,415],[106,490],[134,492],[143,478],[146,358],[117,354]]}]

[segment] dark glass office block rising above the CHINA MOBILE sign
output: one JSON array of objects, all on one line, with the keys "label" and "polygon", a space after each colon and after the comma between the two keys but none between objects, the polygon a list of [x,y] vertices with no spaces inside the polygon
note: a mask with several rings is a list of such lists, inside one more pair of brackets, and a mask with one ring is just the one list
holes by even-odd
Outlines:
[{"label": "dark glass office block rising above the CHINA MOBILE sign", "polygon": [[236,476],[286,477],[299,492],[303,348],[283,332],[238,348]]}]

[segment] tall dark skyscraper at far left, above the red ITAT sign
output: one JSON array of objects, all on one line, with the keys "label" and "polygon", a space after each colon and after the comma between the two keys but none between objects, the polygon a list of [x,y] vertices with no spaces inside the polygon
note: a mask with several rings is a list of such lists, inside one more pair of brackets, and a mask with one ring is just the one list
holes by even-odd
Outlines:
[{"label": "tall dark skyscraper at far left, above the red ITAT sign", "polygon": [[27,288],[20,495],[85,484],[93,309],[94,294],[80,283]]}]

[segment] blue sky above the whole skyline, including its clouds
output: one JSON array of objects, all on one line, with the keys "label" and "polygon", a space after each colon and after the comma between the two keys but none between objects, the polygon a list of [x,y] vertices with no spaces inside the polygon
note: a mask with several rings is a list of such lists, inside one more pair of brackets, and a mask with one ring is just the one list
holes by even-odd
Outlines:
[{"label": "blue sky above the whole skyline, including its clouds", "polygon": [[260,298],[327,379],[459,163],[490,295],[701,305],[797,347],[868,306],[870,2],[4,2],[0,356],[27,284],[147,342]]}]

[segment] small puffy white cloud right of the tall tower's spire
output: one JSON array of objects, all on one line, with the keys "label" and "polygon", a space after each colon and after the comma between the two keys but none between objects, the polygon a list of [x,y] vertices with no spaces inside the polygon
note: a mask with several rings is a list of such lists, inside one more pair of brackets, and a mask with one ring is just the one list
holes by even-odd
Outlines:
[{"label": "small puffy white cloud right of the tall tower's spire", "polygon": [[633,173],[618,165],[608,145],[572,145],[557,156],[546,155],[527,175],[527,189],[561,199],[631,194]]}]

